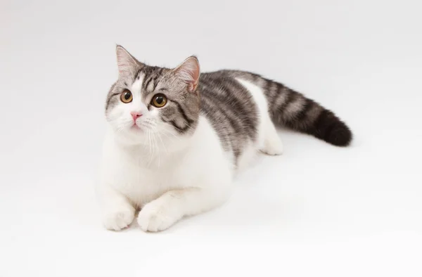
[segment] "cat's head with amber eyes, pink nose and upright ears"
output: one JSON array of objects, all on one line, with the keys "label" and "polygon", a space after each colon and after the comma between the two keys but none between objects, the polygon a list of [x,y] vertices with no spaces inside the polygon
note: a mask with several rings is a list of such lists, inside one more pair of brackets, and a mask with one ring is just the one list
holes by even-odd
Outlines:
[{"label": "cat's head with amber eyes, pink nose and upright ears", "polygon": [[115,135],[131,144],[191,136],[200,110],[198,59],[191,56],[170,69],[143,64],[122,46],[116,54],[119,77],[106,101]]}]

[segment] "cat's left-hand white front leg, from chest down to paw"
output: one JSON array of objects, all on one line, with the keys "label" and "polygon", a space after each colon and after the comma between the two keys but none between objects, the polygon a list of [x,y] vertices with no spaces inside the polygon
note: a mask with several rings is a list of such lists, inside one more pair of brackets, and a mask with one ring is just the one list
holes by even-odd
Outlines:
[{"label": "cat's left-hand white front leg, from chest down to paw", "polygon": [[96,193],[103,225],[108,230],[119,231],[132,223],[135,208],[124,195],[106,184],[99,186]]}]

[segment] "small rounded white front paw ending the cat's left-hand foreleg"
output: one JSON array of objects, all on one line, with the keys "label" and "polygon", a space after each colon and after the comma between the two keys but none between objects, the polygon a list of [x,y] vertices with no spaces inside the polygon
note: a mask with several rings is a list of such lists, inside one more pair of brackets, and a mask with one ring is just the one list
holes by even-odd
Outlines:
[{"label": "small rounded white front paw ending the cat's left-hand foreleg", "polygon": [[108,210],[103,214],[103,225],[108,230],[120,231],[134,221],[135,210],[133,207],[122,206]]}]

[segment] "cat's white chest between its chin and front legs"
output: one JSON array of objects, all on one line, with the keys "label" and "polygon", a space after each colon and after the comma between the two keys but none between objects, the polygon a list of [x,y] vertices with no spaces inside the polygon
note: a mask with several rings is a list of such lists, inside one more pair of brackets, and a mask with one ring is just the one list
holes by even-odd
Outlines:
[{"label": "cat's white chest between its chin and front legs", "polygon": [[182,150],[155,153],[155,159],[150,160],[148,148],[124,146],[110,132],[103,146],[101,183],[142,207],[167,191],[199,187],[214,190],[224,185],[222,176],[231,180],[233,157],[224,153],[204,117],[200,117],[195,135],[184,143]]}]

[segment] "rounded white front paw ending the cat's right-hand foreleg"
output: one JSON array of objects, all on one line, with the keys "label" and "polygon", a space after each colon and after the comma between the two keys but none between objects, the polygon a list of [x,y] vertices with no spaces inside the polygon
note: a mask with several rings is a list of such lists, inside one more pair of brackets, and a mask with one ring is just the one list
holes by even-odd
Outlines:
[{"label": "rounded white front paw ending the cat's right-hand foreleg", "polygon": [[166,202],[154,200],[145,205],[138,215],[138,225],[143,231],[157,232],[172,226],[181,218],[175,207]]}]

